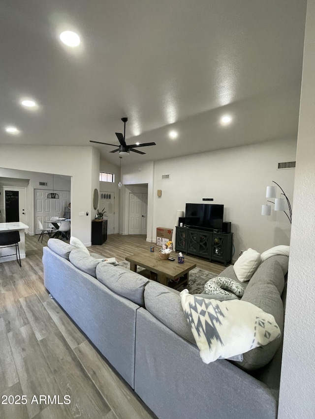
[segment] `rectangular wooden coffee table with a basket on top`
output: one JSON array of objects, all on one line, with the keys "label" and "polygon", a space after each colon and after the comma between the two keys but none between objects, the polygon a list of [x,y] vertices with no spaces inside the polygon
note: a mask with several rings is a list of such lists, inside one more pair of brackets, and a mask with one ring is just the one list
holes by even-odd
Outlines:
[{"label": "rectangular wooden coffee table with a basket on top", "polygon": [[[188,286],[189,271],[196,267],[195,263],[185,260],[184,263],[178,263],[177,253],[172,252],[170,256],[175,257],[174,261],[162,260],[158,252],[142,251],[141,253],[131,254],[126,260],[130,262],[130,270],[137,272],[137,266],[148,269],[157,274],[157,281],[163,285],[179,288],[182,285]],[[181,278],[178,282],[169,282],[169,279]]]}]

